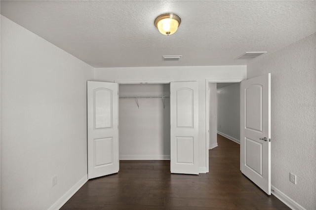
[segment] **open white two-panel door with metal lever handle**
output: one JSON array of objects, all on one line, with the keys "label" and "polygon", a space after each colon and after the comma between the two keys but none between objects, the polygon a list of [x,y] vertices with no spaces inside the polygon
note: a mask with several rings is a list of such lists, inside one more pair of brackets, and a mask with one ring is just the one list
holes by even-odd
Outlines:
[{"label": "open white two-panel door with metal lever handle", "polygon": [[240,85],[240,170],[271,195],[271,74]]}]

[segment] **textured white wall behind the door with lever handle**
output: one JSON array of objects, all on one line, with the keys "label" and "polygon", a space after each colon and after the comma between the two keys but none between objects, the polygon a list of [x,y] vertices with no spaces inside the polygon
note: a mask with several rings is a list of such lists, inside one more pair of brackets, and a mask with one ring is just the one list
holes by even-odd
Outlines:
[{"label": "textured white wall behind the door with lever handle", "polygon": [[[316,34],[247,66],[247,78],[271,72],[271,184],[316,210]],[[297,175],[297,184],[289,173]]]}]

